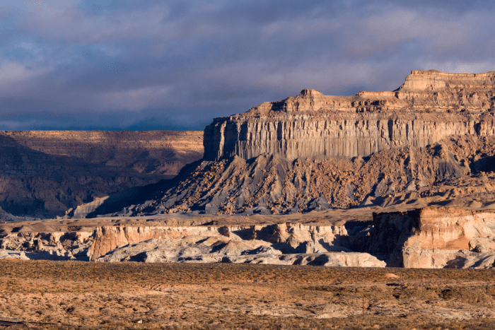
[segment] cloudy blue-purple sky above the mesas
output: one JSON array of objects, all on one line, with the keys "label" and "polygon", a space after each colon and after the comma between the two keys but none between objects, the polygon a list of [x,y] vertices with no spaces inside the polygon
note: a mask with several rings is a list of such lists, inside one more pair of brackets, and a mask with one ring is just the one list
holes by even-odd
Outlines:
[{"label": "cloudy blue-purple sky above the mesas", "polygon": [[0,129],[202,130],[283,100],[495,71],[495,1],[0,0]]}]

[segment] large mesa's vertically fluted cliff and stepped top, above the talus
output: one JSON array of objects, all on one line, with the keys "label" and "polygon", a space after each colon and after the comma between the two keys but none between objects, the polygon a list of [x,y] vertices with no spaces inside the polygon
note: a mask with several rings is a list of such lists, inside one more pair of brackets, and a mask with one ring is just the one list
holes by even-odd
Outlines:
[{"label": "large mesa's vertically fluted cliff and stepped top, above the talus", "polygon": [[495,72],[412,71],[393,92],[327,96],[316,90],[216,118],[204,160],[267,153],[296,158],[366,157],[448,136],[495,134]]}]

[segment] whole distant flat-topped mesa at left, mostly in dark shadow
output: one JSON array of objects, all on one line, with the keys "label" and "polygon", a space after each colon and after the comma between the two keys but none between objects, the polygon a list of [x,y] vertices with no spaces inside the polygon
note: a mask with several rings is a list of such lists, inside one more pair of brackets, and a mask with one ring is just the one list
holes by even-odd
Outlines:
[{"label": "whole distant flat-topped mesa at left, mostly in dark shadow", "polygon": [[202,158],[202,132],[1,131],[0,219],[54,218],[175,177]]}]

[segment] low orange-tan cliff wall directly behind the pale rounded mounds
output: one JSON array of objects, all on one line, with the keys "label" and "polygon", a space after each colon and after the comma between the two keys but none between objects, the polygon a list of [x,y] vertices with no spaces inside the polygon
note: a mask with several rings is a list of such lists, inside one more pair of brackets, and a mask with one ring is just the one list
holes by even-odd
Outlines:
[{"label": "low orange-tan cliff wall directly behind the pale rounded mounds", "polygon": [[[243,254],[248,250],[260,247],[272,247],[280,253],[293,254],[342,251],[347,248],[347,230],[344,226],[334,225],[301,225],[282,223],[277,225],[249,225],[249,226],[153,226],[153,227],[115,227],[105,226],[95,230],[95,239],[91,246],[92,259],[112,252],[115,249],[126,247],[129,244],[147,240],[163,240],[163,248],[168,246],[182,246],[190,248],[197,242],[210,247],[213,242],[244,242],[248,244],[244,249],[233,249],[232,254]],[[255,242],[255,244],[253,244]],[[218,245],[218,244],[217,244]],[[142,248],[133,249],[134,252],[144,252]],[[202,251],[202,252],[201,252]],[[207,254],[204,249],[197,251],[197,257]],[[235,252],[237,251],[237,252]],[[128,252],[126,252],[128,253]],[[183,252],[174,254],[175,257],[184,255]],[[170,256],[169,256],[170,257]],[[172,258],[172,257],[171,257]],[[172,259],[173,259],[172,258]],[[111,258],[115,260],[115,257]],[[110,259],[108,260],[110,261]]]}]

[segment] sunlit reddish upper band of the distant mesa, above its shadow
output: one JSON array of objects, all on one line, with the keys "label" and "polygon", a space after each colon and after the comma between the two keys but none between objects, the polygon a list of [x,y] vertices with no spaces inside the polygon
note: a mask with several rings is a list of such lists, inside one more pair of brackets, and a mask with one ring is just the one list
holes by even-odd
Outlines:
[{"label": "sunlit reddish upper band of the distant mesa, above its shadow", "polygon": [[203,155],[200,131],[1,131],[47,155],[174,177]]}]

